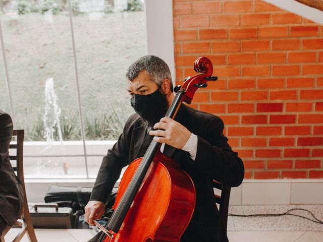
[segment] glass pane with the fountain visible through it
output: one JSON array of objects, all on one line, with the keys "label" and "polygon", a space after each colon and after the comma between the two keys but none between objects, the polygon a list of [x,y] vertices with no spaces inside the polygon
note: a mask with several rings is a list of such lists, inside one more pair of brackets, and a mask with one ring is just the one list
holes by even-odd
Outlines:
[{"label": "glass pane with the fountain visible through it", "polygon": [[[28,176],[85,177],[66,1],[10,1],[1,21],[18,129],[25,130]],[[74,147],[75,144],[72,144]],[[29,149],[29,150],[28,150]],[[53,156],[53,157],[48,157]]]}]

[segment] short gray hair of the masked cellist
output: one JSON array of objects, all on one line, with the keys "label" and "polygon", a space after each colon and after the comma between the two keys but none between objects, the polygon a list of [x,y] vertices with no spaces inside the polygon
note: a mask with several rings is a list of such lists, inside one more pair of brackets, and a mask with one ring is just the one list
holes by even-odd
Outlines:
[{"label": "short gray hair of the masked cellist", "polygon": [[173,91],[171,71],[163,59],[154,55],[142,56],[130,65],[126,77],[132,82],[142,71],[146,71],[151,80],[158,86],[160,86],[165,79],[170,80],[171,91]]}]

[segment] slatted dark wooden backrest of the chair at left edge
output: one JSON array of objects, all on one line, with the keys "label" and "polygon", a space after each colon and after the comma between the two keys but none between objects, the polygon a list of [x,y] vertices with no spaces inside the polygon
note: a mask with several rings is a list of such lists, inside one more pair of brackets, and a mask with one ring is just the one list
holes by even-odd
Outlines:
[{"label": "slatted dark wooden backrest of the chair at left edge", "polygon": [[17,136],[17,144],[10,143],[9,149],[16,150],[16,155],[10,155],[10,160],[16,160],[16,165],[13,165],[14,170],[17,172],[17,176],[25,190],[24,180],[24,166],[23,166],[23,154],[24,154],[24,130],[14,130],[13,136]]}]

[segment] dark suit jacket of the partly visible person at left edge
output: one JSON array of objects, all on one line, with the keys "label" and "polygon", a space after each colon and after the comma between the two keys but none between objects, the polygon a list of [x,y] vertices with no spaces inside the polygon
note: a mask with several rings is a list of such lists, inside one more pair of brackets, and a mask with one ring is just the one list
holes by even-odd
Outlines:
[{"label": "dark suit jacket of the partly visible person at left edge", "polygon": [[0,110],[0,216],[12,226],[21,214],[23,189],[9,159],[13,124],[8,113]]}]

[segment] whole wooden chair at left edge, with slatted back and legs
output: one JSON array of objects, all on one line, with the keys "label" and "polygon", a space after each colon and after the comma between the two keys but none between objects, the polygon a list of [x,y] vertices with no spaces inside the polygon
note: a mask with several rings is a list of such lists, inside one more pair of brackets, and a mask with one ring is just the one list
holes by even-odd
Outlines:
[{"label": "whole wooden chair at left edge, with slatted back and legs", "polygon": [[[29,214],[26,189],[25,189],[25,180],[24,180],[24,167],[23,167],[23,145],[24,145],[24,130],[14,130],[13,136],[17,136],[17,144],[10,144],[9,149],[16,149],[16,155],[10,156],[10,160],[16,160],[16,165],[13,165],[14,170],[17,172],[17,176],[21,181],[23,190],[24,190],[24,206],[23,214],[20,219],[17,220],[14,226],[19,226],[21,229],[14,238],[13,242],[18,242],[27,232],[29,241],[37,242],[37,238],[34,231],[34,226],[32,225],[31,217]],[[1,242],[5,242],[5,235],[1,237]]]}]

